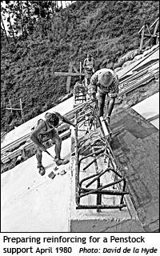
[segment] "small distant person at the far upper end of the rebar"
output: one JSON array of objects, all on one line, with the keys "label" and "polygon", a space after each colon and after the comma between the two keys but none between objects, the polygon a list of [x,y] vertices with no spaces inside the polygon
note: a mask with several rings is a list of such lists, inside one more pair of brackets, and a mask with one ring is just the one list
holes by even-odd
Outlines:
[{"label": "small distant person at the far upper end of the rebar", "polygon": [[82,66],[85,72],[86,87],[88,87],[88,85],[90,84],[90,78],[92,74],[94,74],[94,66],[95,66],[94,58],[92,57],[91,54],[87,54]]}]

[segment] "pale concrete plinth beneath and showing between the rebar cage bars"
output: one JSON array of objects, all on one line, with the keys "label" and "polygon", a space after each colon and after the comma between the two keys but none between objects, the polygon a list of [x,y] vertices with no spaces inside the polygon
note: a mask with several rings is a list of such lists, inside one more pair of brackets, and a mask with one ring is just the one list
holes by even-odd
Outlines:
[{"label": "pale concrete plinth beneath and showing between the rebar cage bars", "polygon": [[[84,108],[83,108],[84,109]],[[83,130],[84,127],[81,126],[81,134],[85,133]],[[89,194],[85,197],[80,198],[81,206],[89,206],[87,209],[79,208],[78,202],[76,201],[78,198],[78,190],[77,190],[77,181],[78,181],[78,172],[77,168],[77,153],[76,148],[77,145],[75,137],[76,130],[72,130],[71,132],[71,172],[70,172],[70,216],[69,216],[69,231],[70,232],[143,232],[143,228],[141,223],[139,222],[138,215],[134,210],[134,206],[130,200],[130,196],[124,194],[121,195],[116,194],[119,190],[122,190],[121,184],[116,184],[111,187],[113,194],[102,194],[101,200],[103,206],[109,206],[108,209],[93,209],[94,205],[96,205],[96,195]],[[97,134],[98,136],[98,134]],[[90,137],[90,135],[89,135]],[[83,138],[82,138],[83,139]],[[83,141],[83,140],[82,140]],[[90,141],[90,140],[89,140]],[[89,142],[89,144],[91,141]],[[79,148],[79,154],[84,155],[86,151]],[[75,154],[74,154],[75,152]],[[73,154],[72,154],[73,153]],[[81,155],[81,157],[82,157]],[[89,187],[90,189],[96,189],[96,181],[94,179],[87,180],[86,177],[92,177],[94,173],[94,165],[90,165],[90,158],[86,158],[84,162],[81,162],[81,170],[79,173],[80,180],[83,182],[83,187]],[[101,170],[105,170],[104,160],[102,158],[98,159],[98,164]],[[116,164],[116,163],[113,163]],[[86,166],[87,167],[86,169]],[[97,169],[97,168],[96,168]],[[118,170],[117,170],[118,171]],[[116,181],[115,173],[112,173],[111,170],[107,171],[103,177],[101,177],[101,185],[112,184]],[[76,181],[76,182],[75,182]],[[109,186],[108,186],[109,187]],[[115,192],[115,194],[114,194]],[[122,198],[124,202],[122,202]],[[117,206],[121,206],[122,208],[117,208]],[[99,203],[98,203],[99,204]],[[91,207],[90,207],[91,206]]]}]

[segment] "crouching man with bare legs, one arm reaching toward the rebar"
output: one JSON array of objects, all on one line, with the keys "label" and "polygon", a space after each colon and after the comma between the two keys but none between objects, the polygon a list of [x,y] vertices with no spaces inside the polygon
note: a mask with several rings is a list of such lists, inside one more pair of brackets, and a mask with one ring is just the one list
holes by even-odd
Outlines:
[{"label": "crouching man with bare legs, one arm reaching toward the rebar", "polygon": [[46,147],[43,145],[43,142],[46,142],[49,139],[54,142],[54,161],[57,166],[68,163],[69,160],[61,158],[62,139],[59,137],[56,128],[58,127],[60,121],[66,122],[67,124],[74,126],[74,123],[70,122],[68,118],[62,116],[58,112],[46,113],[45,119],[46,120],[38,120],[38,125],[34,128],[32,134],[30,135],[30,139],[35,143],[38,169],[39,174],[41,175],[45,174],[45,168],[42,166],[42,151],[46,151]]}]

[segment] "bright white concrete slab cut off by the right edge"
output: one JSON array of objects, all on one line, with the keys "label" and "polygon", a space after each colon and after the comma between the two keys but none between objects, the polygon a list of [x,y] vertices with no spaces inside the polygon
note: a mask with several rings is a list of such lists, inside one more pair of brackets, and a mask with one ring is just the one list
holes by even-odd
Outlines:
[{"label": "bright white concrete slab cut off by the right edge", "polygon": [[[132,107],[138,114],[141,114],[143,118],[149,119],[159,114],[159,93],[146,98],[142,102]],[[159,130],[159,118],[150,121],[150,123]]]}]

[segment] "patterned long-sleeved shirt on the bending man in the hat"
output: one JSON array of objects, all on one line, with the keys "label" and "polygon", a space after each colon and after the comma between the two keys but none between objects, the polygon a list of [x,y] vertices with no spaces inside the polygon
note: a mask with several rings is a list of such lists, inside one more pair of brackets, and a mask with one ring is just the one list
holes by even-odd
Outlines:
[{"label": "patterned long-sleeved shirt on the bending man in the hat", "polygon": [[[113,82],[111,83],[110,86],[102,86],[98,82],[98,76],[104,71],[110,71],[110,73],[113,75]],[[108,94],[110,97],[117,97],[118,96],[118,75],[114,73],[113,70],[110,69],[101,69],[96,71],[93,76],[90,79],[90,85],[89,85],[89,90],[90,94],[97,93],[97,91],[101,92],[102,94]]]}]

